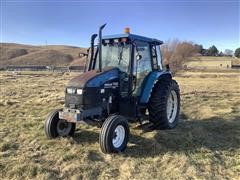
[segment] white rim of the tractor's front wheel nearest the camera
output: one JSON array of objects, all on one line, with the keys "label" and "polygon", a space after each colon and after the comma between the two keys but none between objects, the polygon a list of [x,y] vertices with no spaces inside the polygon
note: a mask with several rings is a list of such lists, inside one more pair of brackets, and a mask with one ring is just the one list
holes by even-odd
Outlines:
[{"label": "white rim of the tractor's front wheel nearest the camera", "polygon": [[122,125],[118,125],[114,130],[112,144],[115,148],[119,148],[125,139],[125,128]]}]

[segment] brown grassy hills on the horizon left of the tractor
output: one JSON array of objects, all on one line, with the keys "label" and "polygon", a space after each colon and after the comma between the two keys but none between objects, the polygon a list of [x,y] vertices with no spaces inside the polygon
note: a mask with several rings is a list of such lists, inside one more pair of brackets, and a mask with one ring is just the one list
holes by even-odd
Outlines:
[{"label": "brown grassy hills on the horizon left of the tractor", "polygon": [[85,63],[85,58],[79,58],[78,55],[80,52],[86,53],[86,50],[86,48],[63,45],[31,46],[24,44],[1,43],[0,66],[67,66],[70,64],[83,65]]}]

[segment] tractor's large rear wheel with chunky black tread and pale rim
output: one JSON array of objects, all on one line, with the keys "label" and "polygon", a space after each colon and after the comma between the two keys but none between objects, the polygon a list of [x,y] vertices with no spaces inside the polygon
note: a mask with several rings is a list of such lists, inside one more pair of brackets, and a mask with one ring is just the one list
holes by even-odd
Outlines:
[{"label": "tractor's large rear wheel with chunky black tread and pale rim", "polygon": [[154,87],[148,103],[149,121],[161,129],[177,125],[180,110],[180,90],[175,80],[162,79]]}]

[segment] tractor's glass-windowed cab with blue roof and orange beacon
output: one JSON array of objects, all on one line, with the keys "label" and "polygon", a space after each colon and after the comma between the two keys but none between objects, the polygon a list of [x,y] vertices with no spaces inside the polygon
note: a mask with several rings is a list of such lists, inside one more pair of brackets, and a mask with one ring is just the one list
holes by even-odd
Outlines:
[{"label": "tractor's glass-windowed cab with blue roof and orange beacon", "polygon": [[163,42],[157,39],[130,34],[129,28],[125,29],[124,34],[103,36],[101,62],[98,45],[88,63],[88,71],[118,68],[121,74],[121,96],[131,94],[139,97],[144,79],[153,71],[163,70],[161,44]]}]

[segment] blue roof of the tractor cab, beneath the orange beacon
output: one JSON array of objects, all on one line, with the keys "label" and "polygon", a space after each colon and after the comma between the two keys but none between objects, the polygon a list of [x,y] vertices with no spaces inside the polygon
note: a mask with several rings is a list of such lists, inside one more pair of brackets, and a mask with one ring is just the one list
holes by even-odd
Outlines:
[{"label": "blue roof of the tractor cab, beneath the orange beacon", "polygon": [[155,44],[155,45],[163,44],[163,41],[160,41],[158,39],[148,38],[148,37],[139,36],[139,35],[130,34],[130,33],[116,34],[116,35],[109,35],[109,36],[103,36],[102,37],[102,39],[116,39],[116,38],[129,38],[131,41],[139,40],[139,41],[149,42],[149,43],[152,43],[152,44]]}]

